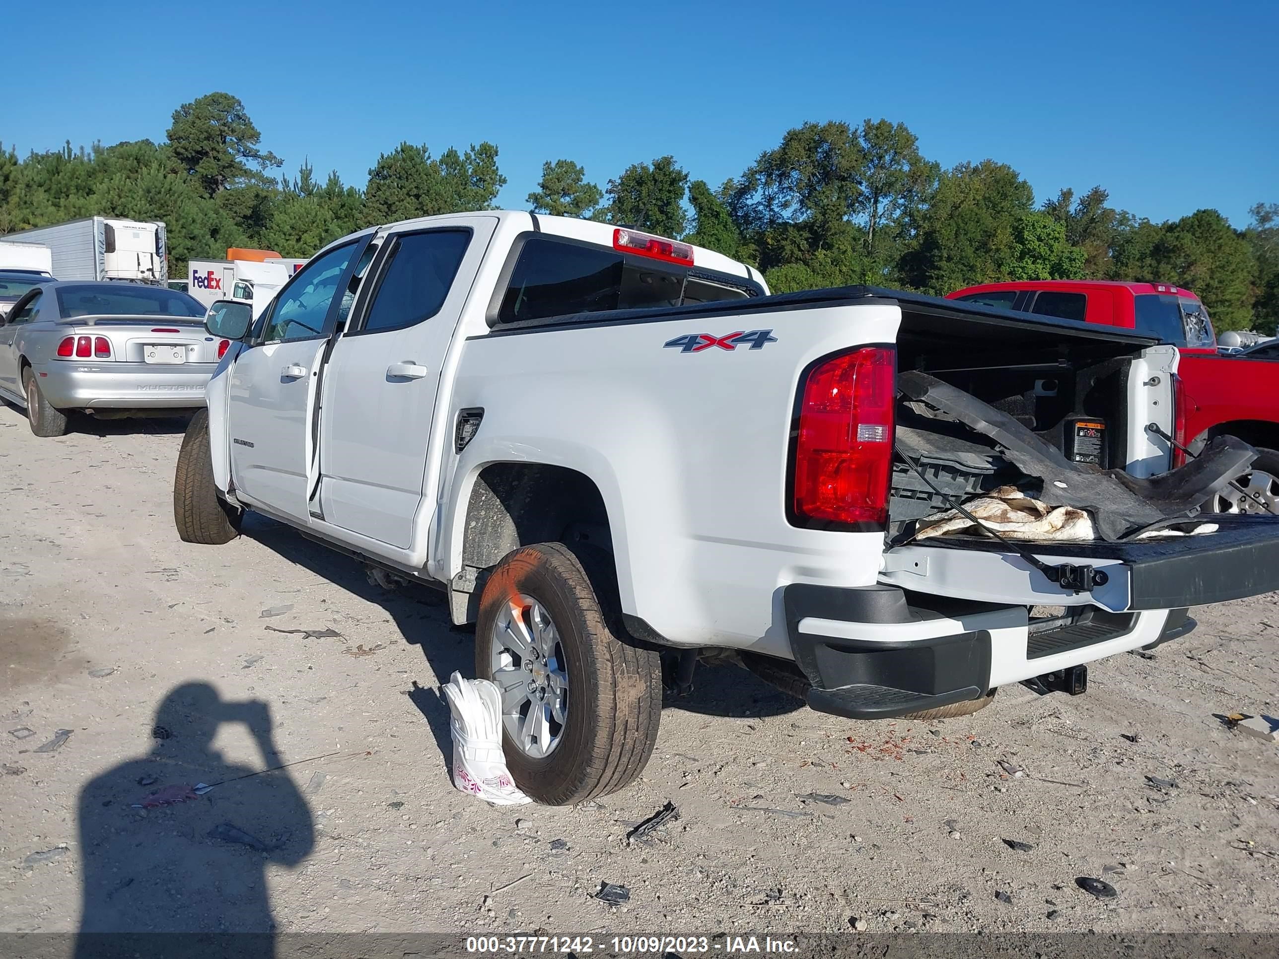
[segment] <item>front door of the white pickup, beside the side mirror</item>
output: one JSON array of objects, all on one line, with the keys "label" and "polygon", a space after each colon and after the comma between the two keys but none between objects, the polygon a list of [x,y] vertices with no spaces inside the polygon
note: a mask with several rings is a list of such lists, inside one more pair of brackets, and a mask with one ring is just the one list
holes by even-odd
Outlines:
[{"label": "front door of the white pickup, beside the side mirror", "polygon": [[230,371],[228,432],[237,495],[284,519],[308,522],[320,366],[350,309],[356,266],[371,235],[307,263],[255,325]]}]

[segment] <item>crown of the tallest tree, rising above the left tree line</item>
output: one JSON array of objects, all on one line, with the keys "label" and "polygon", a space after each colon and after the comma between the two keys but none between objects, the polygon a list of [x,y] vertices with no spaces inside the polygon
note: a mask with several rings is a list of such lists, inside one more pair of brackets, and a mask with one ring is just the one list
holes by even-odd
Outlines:
[{"label": "crown of the tallest tree, rising above the left tree line", "polygon": [[169,148],[178,168],[194,176],[207,196],[252,179],[281,161],[258,150],[262,134],[244,104],[230,93],[206,93],[173,111]]}]

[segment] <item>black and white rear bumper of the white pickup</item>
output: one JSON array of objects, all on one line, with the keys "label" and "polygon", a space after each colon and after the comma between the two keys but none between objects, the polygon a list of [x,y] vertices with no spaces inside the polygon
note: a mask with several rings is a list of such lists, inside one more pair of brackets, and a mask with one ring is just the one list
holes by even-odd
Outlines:
[{"label": "black and white rear bumper of the white pickup", "polygon": [[[932,597],[935,598],[935,597]],[[1182,634],[1184,611],[1097,611],[1036,624],[1024,606],[911,606],[889,586],[842,589],[793,584],[783,595],[808,705],[849,719],[888,719],[966,699]],[[1173,638],[1169,635],[1168,638]]]}]

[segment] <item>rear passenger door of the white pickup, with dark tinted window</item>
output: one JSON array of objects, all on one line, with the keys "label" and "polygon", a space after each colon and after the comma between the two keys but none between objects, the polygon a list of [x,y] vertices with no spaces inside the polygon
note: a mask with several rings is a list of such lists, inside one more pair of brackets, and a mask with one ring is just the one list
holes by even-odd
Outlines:
[{"label": "rear passenger door of the white pickup, with dark tinted window", "polygon": [[496,224],[458,217],[384,242],[371,295],[325,367],[326,523],[391,547],[412,543],[444,357]]}]

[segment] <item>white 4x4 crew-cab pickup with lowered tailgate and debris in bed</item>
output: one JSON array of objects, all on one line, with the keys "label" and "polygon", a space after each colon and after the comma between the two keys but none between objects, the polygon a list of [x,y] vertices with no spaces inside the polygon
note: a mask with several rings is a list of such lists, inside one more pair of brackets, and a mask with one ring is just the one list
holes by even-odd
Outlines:
[{"label": "white 4x4 crew-cab pickup with lowered tailgate and debris in bed", "polygon": [[[1124,331],[773,297],[718,253],[524,212],[347,237],[256,321],[206,325],[233,344],[178,460],[182,538],[256,510],[445,591],[544,803],[640,774],[663,651],[683,680],[728,651],[840,716],[961,715],[1078,692],[1188,606],[1279,587],[1276,518],[1197,515],[1252,449],[1168,472],[1177,350]],[[1007,483],[1096,536],[916,538]]]}]

